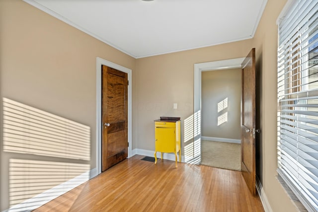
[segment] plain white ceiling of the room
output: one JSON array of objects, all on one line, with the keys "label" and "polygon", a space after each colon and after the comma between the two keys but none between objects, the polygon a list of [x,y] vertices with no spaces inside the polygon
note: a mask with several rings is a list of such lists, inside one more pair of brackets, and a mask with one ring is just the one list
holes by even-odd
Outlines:
[{"label": "plain white ceiling of the room", "polygon": [[134,57],[254,36],[267,0],[24,0]]}]

